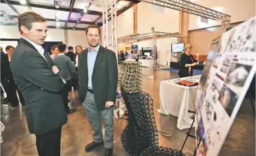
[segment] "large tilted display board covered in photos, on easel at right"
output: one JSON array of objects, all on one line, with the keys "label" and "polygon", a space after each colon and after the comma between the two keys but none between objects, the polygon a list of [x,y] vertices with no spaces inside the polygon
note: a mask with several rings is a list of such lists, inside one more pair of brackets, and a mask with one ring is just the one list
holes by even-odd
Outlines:
[{"label": "large tilted display board covered in photos, on easel at right", "polygon": [[255,17],[212,41],[195,97],[199,156],[218,155],[255,75]]}]

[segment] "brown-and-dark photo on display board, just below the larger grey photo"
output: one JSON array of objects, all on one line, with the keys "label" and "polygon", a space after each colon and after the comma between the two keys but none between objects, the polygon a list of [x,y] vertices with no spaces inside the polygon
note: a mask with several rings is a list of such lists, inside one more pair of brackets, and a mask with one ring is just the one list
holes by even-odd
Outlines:
[{"label": "brown-and-dark photo on display board, just below the larger grey photo", "polygon": [[219,101],[226,110],[228,116],[231,116],[236,105],[237,98],[238,96],[224,84],[219,96]]}]

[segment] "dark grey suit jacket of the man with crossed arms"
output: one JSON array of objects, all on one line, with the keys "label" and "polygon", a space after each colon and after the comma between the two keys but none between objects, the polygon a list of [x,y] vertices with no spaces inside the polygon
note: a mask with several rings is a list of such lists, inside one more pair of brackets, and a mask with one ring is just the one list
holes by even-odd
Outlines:
[{"label": "dark grey suit jacket of the man with crossed arms", "polygon": [[[68,121],[63,105],[61,77],[52,72],[52,60],[21,38],[11,55],[10,68],[26,102],[26,121],[30,133],[41,135]],[[42,90],[43,89],[43,90]]]}]

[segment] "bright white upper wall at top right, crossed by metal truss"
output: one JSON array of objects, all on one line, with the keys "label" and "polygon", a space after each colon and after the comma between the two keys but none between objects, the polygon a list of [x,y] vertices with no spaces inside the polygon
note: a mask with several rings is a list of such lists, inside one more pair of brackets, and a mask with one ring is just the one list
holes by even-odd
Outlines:
[{"label": "bright white upper wall at top right, crossed by metal truss", "polygon": [[[255,16],[255,0],[191,0],[191,2],[231,15],[231,23],[246,21]],[[199,16],[189,15],[188,30],[215,25],[221,25],[221,21],[209,20],[208,24],[201,23]]]}]

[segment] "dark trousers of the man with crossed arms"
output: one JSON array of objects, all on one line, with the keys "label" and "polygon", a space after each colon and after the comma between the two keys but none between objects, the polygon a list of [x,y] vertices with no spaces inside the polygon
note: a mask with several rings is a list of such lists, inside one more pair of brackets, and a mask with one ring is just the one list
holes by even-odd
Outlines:
[{"label": "dark trousers of the man with crossed arms", "polygon": [[61,126],[42,135],[36,135],[39,156],[60,156]]}]

